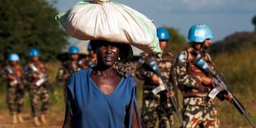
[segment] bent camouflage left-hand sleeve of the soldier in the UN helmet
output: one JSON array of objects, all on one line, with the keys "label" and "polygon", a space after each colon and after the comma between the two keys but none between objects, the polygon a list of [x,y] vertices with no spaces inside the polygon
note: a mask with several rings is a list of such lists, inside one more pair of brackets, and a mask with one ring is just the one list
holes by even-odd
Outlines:
[{"label": "bent camouflage left-hand sleeve of the soldier in the UN helmet", "polygon": [[189,75],[187,73],[187,62],[188,62],[188,54],[186,51],[182,51],[181,54],[178,56],[177,60],[177,74],[178,74],[178,84],[183,86],[191,86],[198,88],[202,84],[202,78],[195,77],[192,75]]}]

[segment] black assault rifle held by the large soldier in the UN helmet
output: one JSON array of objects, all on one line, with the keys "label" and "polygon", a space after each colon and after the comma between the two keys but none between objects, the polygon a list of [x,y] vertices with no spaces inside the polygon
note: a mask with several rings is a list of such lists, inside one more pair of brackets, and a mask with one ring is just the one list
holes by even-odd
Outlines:
[{"label": "black assault rifle held by the large soldier in the UN helmet", "polygon": [[231,94],[232,96],[232,103],[234,106],[238,109],[238,111],[246,118],[246,120],[250,123],[250,126],[255,128],[254,123],[250,121],[250,118],[248,114],[246,113],[245,108],[242,106],[242,104],[238,101],[237,98],[234,97],[234,94],[231,93],[229,87],[229,83],[226,81],[226,78],[223,76],[223,74],[220,74],[210,68],[206,61],[202,58],[203,56],[201,54],[198,54],[193,60],[192,63],[194,63],[195,66],[198,66],[199,69],[204,71],[206,74],[209,74],[211,77],[213,77],[214,82],[214,89],[210,91],[208,96],[210,98],[215,98],[215,96],[221,92],[226,94]]}]

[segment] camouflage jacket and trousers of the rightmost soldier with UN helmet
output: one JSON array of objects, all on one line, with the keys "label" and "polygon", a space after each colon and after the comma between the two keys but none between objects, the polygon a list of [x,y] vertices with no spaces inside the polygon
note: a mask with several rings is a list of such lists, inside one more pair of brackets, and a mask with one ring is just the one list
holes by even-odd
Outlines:
[{"label": "camouflage jacket and trousers of the rightmost soldier with UN helmet", "polygon": [[[214,101],[207,97],[212,86],[204,85],[202,77],[209,77],[192,64],[194,49],[182,50],[178,56],[178,85],[183,94],[183,126],[184,127],[218,127],[217,110]],[[205,53],[204,59],[214,69],[210,55]]]}]

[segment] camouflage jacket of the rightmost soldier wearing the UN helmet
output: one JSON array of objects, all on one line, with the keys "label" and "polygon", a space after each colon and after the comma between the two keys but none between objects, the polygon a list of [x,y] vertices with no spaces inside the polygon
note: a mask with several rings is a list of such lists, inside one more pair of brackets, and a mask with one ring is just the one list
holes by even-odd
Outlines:
[{"label": "camouflage jacket of the rightmost soldier wearing the UN helmet", "polygon": [[[214,70],[214,64],[210,55],[205,53],[203,57],[208,65]],[[184,98],[201,97],[206,98],[212,86],[204,85],[202,77],[207,76],[202,70],[191,62],[194,59],[194,49],[192,47],[182,50],[177,59],[178,86]]]}]

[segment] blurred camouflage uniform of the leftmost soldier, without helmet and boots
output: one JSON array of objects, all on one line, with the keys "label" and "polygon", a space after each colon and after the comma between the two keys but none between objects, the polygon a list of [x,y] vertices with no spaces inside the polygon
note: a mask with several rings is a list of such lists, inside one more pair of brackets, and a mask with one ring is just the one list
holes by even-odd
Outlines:
[{"label": "blurred camouflage uniform of the leftmost soldier, without helmet and boots", "polygon": [[[12,75],[15,80],[11,80],[8,75]],[[25,94],[22,66],[6,66],[3,70],[3,76],[8,80],[6,102],[10,114],[20,114],[22,112],[23,97]]]}]

